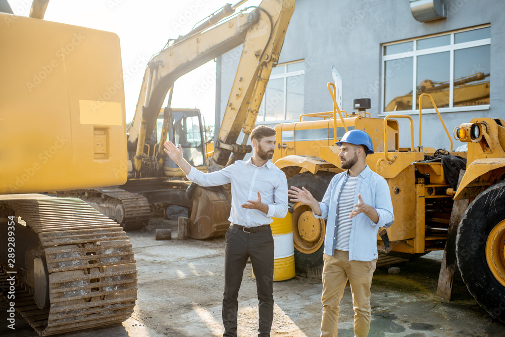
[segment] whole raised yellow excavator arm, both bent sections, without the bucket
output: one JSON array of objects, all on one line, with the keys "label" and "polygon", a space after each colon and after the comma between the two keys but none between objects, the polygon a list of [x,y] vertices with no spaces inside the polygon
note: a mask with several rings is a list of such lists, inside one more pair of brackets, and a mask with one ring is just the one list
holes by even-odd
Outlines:
[{"label": "whole raised yellow excavator arm, both bent sections, without the bucket", "polygon": [[[129,129],[128,149],[135,152],[134,171],[140,171],[144,143],[153,133],[175,80],[240,44],[244,48],[209,169],[217,170],[242,159],[247,152],[247,136],[254,128],[270,72],[278,60],[294,0],[264,0],[254,10],[242,11],[207,29],[217,19],[233,13],[239,4],[227,4],[213,20],[180,37],[148,63]],[[241,130],[245,137],[241,145],[236,145]],[[235,154],[229,160],[231,152]]]}]

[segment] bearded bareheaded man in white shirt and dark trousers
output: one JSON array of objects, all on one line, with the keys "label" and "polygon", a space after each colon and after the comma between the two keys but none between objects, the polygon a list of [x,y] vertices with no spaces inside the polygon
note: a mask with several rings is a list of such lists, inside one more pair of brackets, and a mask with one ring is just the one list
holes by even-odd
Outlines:
[{"label": "bearded bareheaded man in white shirt and dark trousers", "polygon": [[258,336],[270,336],[274,316],[272,290],[274,239],[272,217],[287,214],[287,179],[271,161],[275,149],[275,130],[260,125],[252,130],[252,157],[222,170],[203,173],[183,157],[182,148],[165,142],[165,152],[187,178],[200,186],[231,183],[231,225],[225,236],[225,285],[223,299],[223,336],[237,335],[238,291],[247,259],[250,257],[258,290]]}]

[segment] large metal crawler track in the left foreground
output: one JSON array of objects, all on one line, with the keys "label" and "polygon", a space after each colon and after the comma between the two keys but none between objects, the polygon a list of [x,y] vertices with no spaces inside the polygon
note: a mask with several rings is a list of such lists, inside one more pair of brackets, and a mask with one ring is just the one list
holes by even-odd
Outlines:
[{"label": "large metal crawler track in the left foreground", "polygon": [[[15,274],[8,274],[6,265],[0,268],[0,282],[17,276],[15,309],[39,335],[121,323],[131,316],[137,270],[132,245],[119,224],[75,198],[0,196],[0,210],[13,216],[16,226],[31,229],[42,248],[46,308],[36,304],[30,280],[22,276],[30,274],[29,266],[28,273],[17,266]],[[16,240],[16,247],[22,247],[23,236]],[[26,253],[18,249],[16,256]]]}]

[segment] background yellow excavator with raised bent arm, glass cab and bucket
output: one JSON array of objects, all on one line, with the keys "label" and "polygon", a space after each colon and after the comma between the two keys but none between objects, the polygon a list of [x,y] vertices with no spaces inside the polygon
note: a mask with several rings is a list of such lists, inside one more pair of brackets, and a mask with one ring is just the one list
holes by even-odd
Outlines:
[{"label": "background yellow excavator with raised bent arm, glass cab and bucket", "polygon": [[[205,239],[226,232],[230,194],[226,188],[186,189],[190,182],[163,151],[169,139],[180,143],[197,169],[218,170],[251,151],[246,145],[255,125],[272,67],[278,62],[294,0],[263,0],[235,13],[227,4],[188,34],[170,40],[147,64],[133,122],[128,128],[128,181],[121,186],[64,191],[119,222],[125,230],[142,227],[149,205],[190,209],[189,236]],[[171,108],[174,82],[189,71],[243,44],[212,158],[205,158],[199,111]],[[162,108],[168,94],[168,105]],[[241,143],[237,144],[240,133]],[[232,154],[231,158],[230,155]]]}]

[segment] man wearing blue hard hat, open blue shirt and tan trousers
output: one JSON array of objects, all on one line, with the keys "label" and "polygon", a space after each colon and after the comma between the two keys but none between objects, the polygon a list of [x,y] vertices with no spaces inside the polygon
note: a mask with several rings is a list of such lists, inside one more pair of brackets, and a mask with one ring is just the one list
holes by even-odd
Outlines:
[{"label": "man wearing blue hard hat, open blue shirt and tan trousers", "polygon": [[309,205],[317,218],[326,220],[323,267],[323,318],[321,337],[336,336],[339,303],[349,280],[354,308],[354,333],[370,331],[370,286],[377,262],[377,232],[389,227],[393,205],[386,180],[365,164],[374,153],[363,130],[347,131],[340,141],[340,167],[344,172],[330,181],[319,203],[305,188],[291,187],[291,201]]}]

